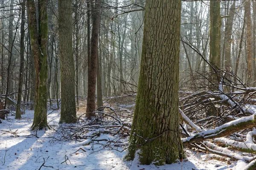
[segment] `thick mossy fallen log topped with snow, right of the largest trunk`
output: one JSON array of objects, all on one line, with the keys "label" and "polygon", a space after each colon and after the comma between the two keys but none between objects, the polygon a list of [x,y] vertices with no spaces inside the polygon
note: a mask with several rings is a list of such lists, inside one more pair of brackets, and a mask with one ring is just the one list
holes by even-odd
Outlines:
[{"label": "thick mossy fallen log topped with snow, right of the largest trunk", "polygon": [[206,139],[220,138],[239,130],[251,128],[256,126],[255,115],[242,117],[234,121],[225,123],[215,129],[207,130],[204,132],[197,133],[195,136],[189,136],[183,139],[183,145],[188,145],[196,142],[201,142]]}]

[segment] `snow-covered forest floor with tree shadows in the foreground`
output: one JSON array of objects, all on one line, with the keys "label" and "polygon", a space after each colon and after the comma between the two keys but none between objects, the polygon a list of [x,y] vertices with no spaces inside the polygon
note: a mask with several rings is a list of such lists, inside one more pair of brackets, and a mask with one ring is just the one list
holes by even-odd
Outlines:
[{"label": "snow-covered forest floor with tree shadows in the foreground", "polygon": [[[51,112],[47,117],[49,125],[58,125],[59,111]],[[26,111],[20,120],[8,118],[0,124],[0,170],[242,170],[246,166],[243,161],[228,164],[225,159],[217,161],[212,154],[192,150],[185,150],[187,160],[183,162],[140,165],[137,160],[123,161],[125,151],[102,150],[103,145],[97,142],[84,146],[84,142],[59,141],[55,138],[59,134],[53,130],[39,130],[37,138],[35,131],[29,130],[33,111]],[[111,136],[104,134],[101,138]]]}]

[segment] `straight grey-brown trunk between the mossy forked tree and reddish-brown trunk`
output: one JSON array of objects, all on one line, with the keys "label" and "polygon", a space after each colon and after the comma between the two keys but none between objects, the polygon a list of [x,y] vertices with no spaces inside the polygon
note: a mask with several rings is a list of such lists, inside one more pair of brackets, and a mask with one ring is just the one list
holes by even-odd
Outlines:
[{"label": "straight grey-brown trunk between the mossy forked tree and reddish-brown trunk", "polygon": [[60,122],[76,122],[75,63],[72,48],[72,0],[59,0],[59,49],[61,60]]}]

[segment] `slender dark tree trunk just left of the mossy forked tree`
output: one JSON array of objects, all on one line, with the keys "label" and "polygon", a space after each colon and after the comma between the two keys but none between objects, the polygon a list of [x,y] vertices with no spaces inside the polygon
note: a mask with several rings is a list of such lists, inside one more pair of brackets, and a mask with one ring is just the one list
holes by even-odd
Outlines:
[{"label": "slender dark tree trunk just left of the mossy forked tree", "polygon": [[21,4],[21,24],[20,24],[20,77],[18,87],[18,98],[16,105],[15,119],[21,118],[20,104],[22,98],[22,86],[23,86],[23,67],[24,67],[24,35],[25,35],[25,3],[26,0],[22,0]]}]

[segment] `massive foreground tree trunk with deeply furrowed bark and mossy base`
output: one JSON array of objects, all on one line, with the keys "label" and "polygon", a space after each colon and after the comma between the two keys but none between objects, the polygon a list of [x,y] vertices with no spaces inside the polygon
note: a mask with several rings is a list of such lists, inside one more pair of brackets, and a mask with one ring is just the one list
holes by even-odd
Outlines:
[{"label": "massive foreground tree trunk with deeply furrowed bark and mossy base", "polygon": [[178,75],[180,0],[146,0],[139,87],[128,160],[140,150],[141,164],[182,159]]}]

